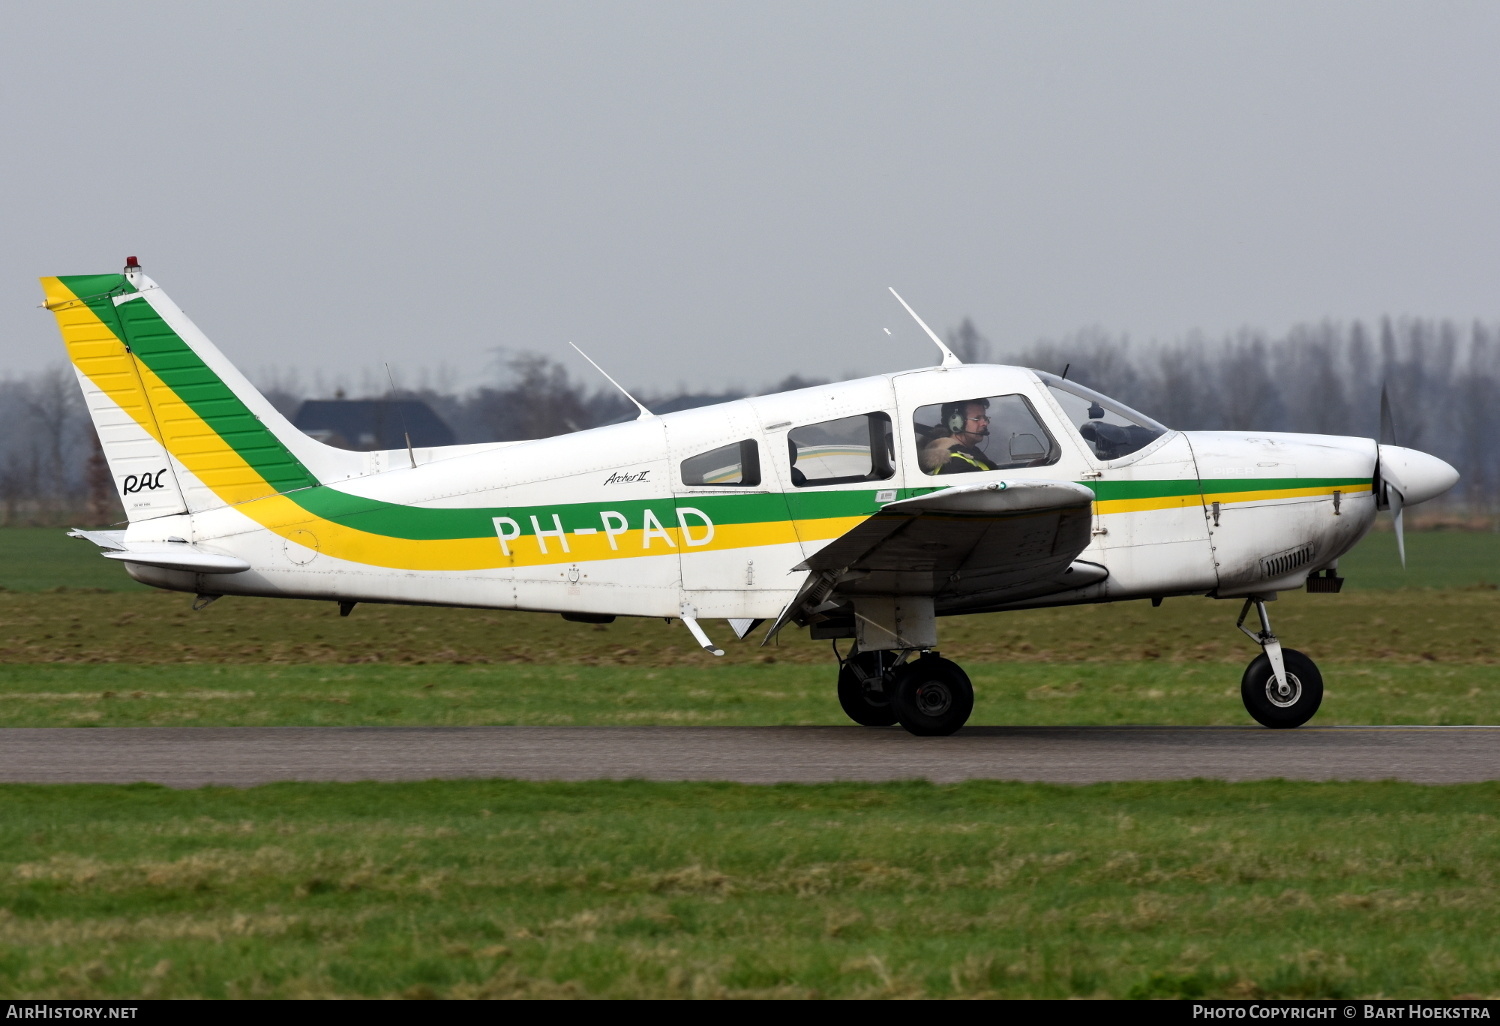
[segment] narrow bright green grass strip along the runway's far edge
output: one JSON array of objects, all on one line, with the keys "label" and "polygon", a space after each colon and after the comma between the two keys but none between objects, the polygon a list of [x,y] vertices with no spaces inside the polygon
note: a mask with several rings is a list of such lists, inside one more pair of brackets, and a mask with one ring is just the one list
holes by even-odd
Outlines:
[{"label": "narrow bright green grass strip along the runway's far edge", "polygon": [[[1250,724],[1221,663],[969,663],[974,724]],[[844,724],[828,668],[0,666],[0,726]],[[1500,722],[1494,666],[1338,663],[1318,726]]]}]

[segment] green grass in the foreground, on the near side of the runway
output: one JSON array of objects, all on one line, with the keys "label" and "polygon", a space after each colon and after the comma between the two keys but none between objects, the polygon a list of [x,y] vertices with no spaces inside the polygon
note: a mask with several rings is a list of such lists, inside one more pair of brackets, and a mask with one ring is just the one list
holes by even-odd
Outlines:
[{"label": "green grass in the foreground, on the near side of the runway", "polygon": [[0,994],[1500,993],[1500,788],[0,788]]}]

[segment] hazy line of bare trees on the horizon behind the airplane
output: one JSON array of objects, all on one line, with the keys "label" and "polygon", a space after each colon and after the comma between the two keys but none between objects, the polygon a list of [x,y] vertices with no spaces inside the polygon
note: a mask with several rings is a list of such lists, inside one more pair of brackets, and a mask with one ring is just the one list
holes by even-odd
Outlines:
[{"label": "hazy line of bare trees on the horizon behind the airplane", "polygon": [[[1444,506],[1496,522],[1500,446],[1490,441],[1500,396],[1500,326],[1449,320],[1300,324],[1284,334],[1240,330],[1132,342],[1102,330],[999,350],[964,320],[948,344],[966,363],[1017,363],[1090,386],[1182,429],[1296,430],[1377,436],[1388,390],[1396,441],[1442,456],[1462,474]],[[760,392],[820,384],[792,375]],[[285,375],[266,396],[292,417],[308,388]],[[366,387],[370,398],[380,398]],[[342,394],[342,393],[340,393]],[[384,392],[390,396],[392,392]],[[520,352],[470,390],[396,390],[422,399],[459,442],[546,438],[628,420],[636,410],[608,382]],[[642,396],[654,412],[752,394],[662,392]],[[0,525],[106,524],[123,519],[72,370],[64,366],[0,380]]]}]

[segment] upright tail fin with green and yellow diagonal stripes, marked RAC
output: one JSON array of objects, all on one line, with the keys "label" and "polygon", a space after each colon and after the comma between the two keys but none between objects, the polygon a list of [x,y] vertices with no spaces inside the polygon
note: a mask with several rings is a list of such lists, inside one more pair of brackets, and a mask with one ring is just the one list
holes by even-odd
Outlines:
[{"label": "upright tail fin with green and yellow diagonal stripes, marked RAC", "polygon": [[291,426],[135,264],[44,278],[130,520],[309,488],[360,456]]}]

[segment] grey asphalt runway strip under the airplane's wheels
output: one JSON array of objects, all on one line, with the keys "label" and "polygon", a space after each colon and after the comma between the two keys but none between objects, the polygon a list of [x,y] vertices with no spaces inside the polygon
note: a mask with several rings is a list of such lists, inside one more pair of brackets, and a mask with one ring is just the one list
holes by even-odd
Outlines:
[{"label": "grey asphalt runway strip under the airplane's wheels", "polygon": [[1454,728],[15,728],[0,782],[1500,778],[1500,726]]}]

